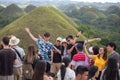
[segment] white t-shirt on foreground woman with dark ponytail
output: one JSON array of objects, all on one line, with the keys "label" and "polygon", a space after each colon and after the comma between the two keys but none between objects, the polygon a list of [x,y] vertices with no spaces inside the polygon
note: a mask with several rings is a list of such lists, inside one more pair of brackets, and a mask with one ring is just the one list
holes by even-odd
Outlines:
[{"label": "white t-shirt on foreground woman with dark ponytail", "polygon": [[[61,80],[60,70],[57,73],[57,80]],[[75,72],[69,67],[66,68],[64,80],[75,80]]]}]

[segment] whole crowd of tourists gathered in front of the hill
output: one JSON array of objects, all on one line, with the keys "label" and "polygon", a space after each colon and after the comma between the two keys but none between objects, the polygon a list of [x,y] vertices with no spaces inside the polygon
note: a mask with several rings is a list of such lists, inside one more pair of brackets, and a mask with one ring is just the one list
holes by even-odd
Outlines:
[{"label": "whole crowd of tourists gathered in front of the hill", "polygon": [[34,37],[29,28],[28,36],[37,44],[30,44],[25,53],[18,46],[20,39],[5,36],[0,43],[0,80],[120,80],[120,54],[116,44],[89,48],[88,44],[100,38],[77,41],[75,37],[57,37],[50,42],[50,33]]}]

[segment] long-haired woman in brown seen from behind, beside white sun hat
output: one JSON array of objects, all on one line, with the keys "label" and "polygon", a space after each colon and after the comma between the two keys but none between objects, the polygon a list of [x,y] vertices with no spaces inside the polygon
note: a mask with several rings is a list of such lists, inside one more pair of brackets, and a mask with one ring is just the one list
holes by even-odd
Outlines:
[{"label": "long-haired woman in brown seen from behind, beside white sun hat", "polygon": [[32,80],[33,69],[37,63],[37,57],[35,46],[29,45],[27,54],[24,57],[23,76],[25,80]]}]

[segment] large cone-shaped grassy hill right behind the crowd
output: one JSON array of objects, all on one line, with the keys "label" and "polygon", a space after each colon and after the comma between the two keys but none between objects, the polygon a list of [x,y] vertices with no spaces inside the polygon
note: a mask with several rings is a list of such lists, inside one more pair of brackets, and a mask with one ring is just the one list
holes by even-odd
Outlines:
[{"label": "large cone-shaped grassy hill right behind the crowd", "polygon": [[0,37],[15,35],[21,39],[20,45],[26,49],[33,41],[25,32],[25,27],[29,27],[36,37],[38,34],[50,32],[52,42],[58,36],[65,38],[69,34],[75,35],[78,32],[75,28],[76,24],[62,12],[52,7],[39,7],[3,28]]}]

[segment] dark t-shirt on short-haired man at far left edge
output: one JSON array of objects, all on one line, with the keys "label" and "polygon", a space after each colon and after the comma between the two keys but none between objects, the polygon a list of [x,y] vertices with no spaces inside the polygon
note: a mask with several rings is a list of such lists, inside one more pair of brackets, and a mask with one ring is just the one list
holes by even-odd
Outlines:
[{"label": "dark t-shirt on short-haired man at far left edge", "polygon": [[13,74],[13,63],[16,59],[16,54],[11,49],[0,50],[0,75],[9,76]]}]

